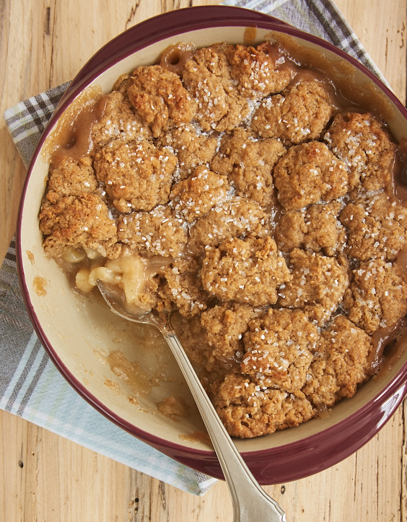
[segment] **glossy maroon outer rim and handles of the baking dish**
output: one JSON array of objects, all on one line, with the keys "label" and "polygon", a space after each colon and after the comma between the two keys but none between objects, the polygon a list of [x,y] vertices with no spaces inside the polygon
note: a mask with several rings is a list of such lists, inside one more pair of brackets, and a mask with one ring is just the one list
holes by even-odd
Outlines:
[{"label": "glossy maroon outer rim and handles of the baking dish", "polygon": [[[191,19],[193,21],[191,21]],[[205,29],[208,27],[224,27],[225,25],[240,27],[255,25],[256,27],[270,31],[280,30],[293,37],[301,38],[332,51],[339,57],[345,58],[346,61],[350,62],[357,69],[360,69],[372,80],[394,103],[396,108],[407,120],[407,110],[404,105],[369,69],[352,56],[336,48],[333,44],[315,37],[312,34],[305,33],[269,15],[238,7],[197,6],[170,11],[169,13],[163,13],[144,20],[119,34],[97,51],[80,69],[57,105],[35,148],[29,165],[27,179],[23,187],[16,231],[17,267],[27,311],[45,350],[67,382],[73,386],[76,392],[87,400],[89,404],[128,433],[159,449],[175,460],[182,462],[182,464],[220,479],[223,479],[223,475],[216,454],[213,451],[195,449],[192,447],[186,448],[185,446],[166,441],[161,437],[151,435],[149,432],[138,428],[134,424],[119,417],[109,408],[106,408],[103,403],[89,393],[85,386],[68,370],[47,339],[39,318],[35,313],[34,306],[29,299],[29,290],[24,277],[22,261],[21,226],[22,211],[27,197],[28,183],[32,174],[33,165],[38,159],[44,140],[59,116],[61,116],[71,101],[76,98],[83,87],[91,83],[111,65],[144,48],[146,45],[158,42],[164,38],[175,37],[177,34],[186,31],[189,32],[191,30]],[[154,29],[153,32],[152,29]],[[307,436],[300,441],[294,441],[269,449],[242,452],[242,455],[250,469],[252,469],[256,479],[261,484],[276,484],[308,477],[337,464],[366,444],[375,436],[382,425],[390,419],[406,393],[407,362],[401,367],[384,390],[367,402],[367,404],[338,423],[317,434]],[[343,435],[343,433],[346,433],[346,435]],[[301,454],[301,458],[298,458],[298,454]],[[266,467],[265,461],[270,461],[270,464]]]}]

